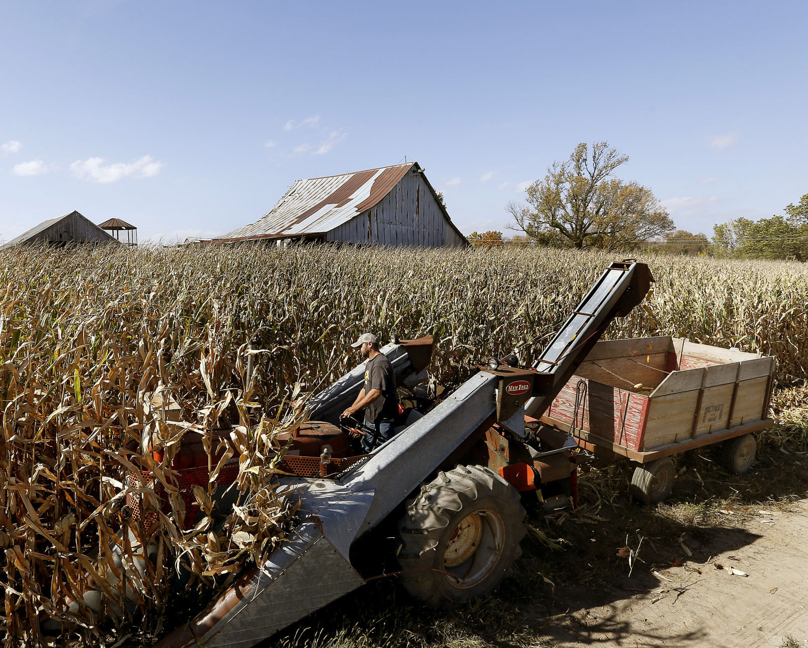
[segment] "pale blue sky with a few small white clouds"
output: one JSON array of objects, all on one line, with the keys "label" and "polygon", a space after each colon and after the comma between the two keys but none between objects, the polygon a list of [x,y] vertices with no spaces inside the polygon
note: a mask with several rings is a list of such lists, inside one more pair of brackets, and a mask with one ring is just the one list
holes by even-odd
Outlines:
[{"label": "pale blue sky with a few small white clouds", "polygon": [[[808,192],[806,2],[0,2],[0,238],[224,234],[419,162],[465,234],[579,142],[712,234]],[[505,230],[508,235],[508,230]]]}]

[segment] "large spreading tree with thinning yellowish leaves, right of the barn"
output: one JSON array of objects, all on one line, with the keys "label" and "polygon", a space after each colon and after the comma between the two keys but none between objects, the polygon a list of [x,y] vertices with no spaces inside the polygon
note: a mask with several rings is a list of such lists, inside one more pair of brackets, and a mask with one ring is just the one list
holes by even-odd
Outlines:
[{"label": "large spreading tree with thinning yellowish leaves, right of the barn", "polygon": [[545,245],[607,250],[661,236],[673,221],[650,189],[612,177],[628,161],[608,142],[595,142],[591,155],[579,144],[569,159],[553,162],[545,179],[528,187],[528,206],[507,205],[516,221],[513,229]]}]

